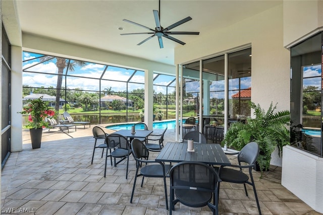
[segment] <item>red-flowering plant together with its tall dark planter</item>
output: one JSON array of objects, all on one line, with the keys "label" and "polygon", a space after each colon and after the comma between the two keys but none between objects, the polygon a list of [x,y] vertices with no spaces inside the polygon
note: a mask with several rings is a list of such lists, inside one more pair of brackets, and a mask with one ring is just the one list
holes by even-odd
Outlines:
[{"label": "red-flowering plant together with its tall dark planter", "polygon": [[23,108],[21,114],[28,114],[28,124],[31,145],[33,149],[40,148],[42,128],[49,127],[49,123],[45,118],[55,116],[55,111],[51,110],[48,105],[42,100],[42,96],[38,99],[28,100],[28,105]]}]

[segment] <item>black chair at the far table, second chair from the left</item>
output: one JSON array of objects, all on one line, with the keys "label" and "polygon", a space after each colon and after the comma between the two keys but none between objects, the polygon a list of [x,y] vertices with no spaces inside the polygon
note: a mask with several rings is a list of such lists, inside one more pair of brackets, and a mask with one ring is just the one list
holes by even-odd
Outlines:
[{"label": "black chair at the far table, second chair from the left", "polygon": [[[126,172],[126,179],[127,179],[128,167],[129,167],[129,156],[131,155],[130,144],[127,137],[120,134],[111,133],[106,136],[105,141],[107,144],[107,149],[109,150],[114,149],[114,150],[110,153],[110,155],[107,154],[108,150],[106,150],[104,177],[106,174],[107,157],[111,157],[111,166],[112,166],[112,158],[114,158],[115,167],[117,166],[117,164],[127,159],[127,172]],[[120,161],[116,162],[116,158],[120,158]]]}]

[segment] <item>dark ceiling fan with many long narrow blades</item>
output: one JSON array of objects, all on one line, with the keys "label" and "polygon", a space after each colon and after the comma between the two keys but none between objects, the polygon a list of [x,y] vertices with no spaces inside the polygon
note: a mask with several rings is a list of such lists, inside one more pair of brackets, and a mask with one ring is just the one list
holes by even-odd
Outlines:
[{"label": "dark ceiling fan with many long narrow blades", "polygon": [[157,10],[152,10],[153,12],[153,17],[155,19],[155,23],[156,23],[156,27],[155,29],[151,29],[151,28],[148,28],[146,26],[143,26],[143,25],[140,25],[138,23],[135,23],[135,22],[132,22],[132,21],[129,21],[129,20],[126,20],[126,19],[123,19],[123,21],[125,22],[129,22],[131,24],[134,24],[134,25],[137,25],[137,26],[140,26],[142,28],[145,28],[151,32],[145,32],[145,33],[128,33],[128,34],[120,34],[120,35],[131,35],[131,34],[152,34],[150,37],[148,37],[147,39],[141,41],[140,43],[138,43],[137,45],[141,45],[142,43],[150,40],[151,38],[153,38],[154,36],[157,36],[158,37],[158,42],[159,42],[159,47],[160,48],[164,48],[164,44],[163,44],[163,39],[162,37],[165,37],[167,39],[170,39],[170,40],[173,40],[175,42],[178,42],[182,45],[185,45],[185,42],[183,41],[180,41],[172,36],[170,36],[170,34],[188,34],[188,35],[199,35],[200,32],[190,32],[190,31],[170,31],[171,29],[179,26],[179,25],[182,25],[190,20],[192,20],[191,17],[186,17],[185,19],[182,19],[176,23],[174,23],[173,25],[170,25],[168,26],[167,28],[163,28],[161,27],[160,25],[160,0],[159,0],[159,12]]}]

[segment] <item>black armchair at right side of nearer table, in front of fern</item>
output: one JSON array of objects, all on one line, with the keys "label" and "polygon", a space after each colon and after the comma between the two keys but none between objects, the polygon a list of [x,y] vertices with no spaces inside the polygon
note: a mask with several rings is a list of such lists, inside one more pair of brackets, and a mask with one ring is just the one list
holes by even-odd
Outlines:
[{"label": "black armchair at right side of nearer table, in front of fern", "polygon": [[[238,154],[237,159],[239,165],[230,165],[229,168],[225,166],[221,166],[219,169],[219,176],[222,181],[230,182],[230,183],[238,183],[244,185],[244,190],[246,195],[248,196],[246,184],[249,184],[253,188],[254,196],[257,202],[257,207],[259,214],[261,215],[260,205],[257,197],[256,187],[254,184],[254,180],[252,177],[252,169],[255,168],[255,162],[259,155],[259,146],[256,142],[249,142],[246,146],[242,148],[240,152],[237,153],[227,153],[228,155]],[[246,163],[247,165],[241,165],[241,162]],[[233,168],[232,168],[233,167]],[[249,169],[249,176],[242,172],[242,169]],[[220,184],[218,185],[218,192],[220,189]]]}]

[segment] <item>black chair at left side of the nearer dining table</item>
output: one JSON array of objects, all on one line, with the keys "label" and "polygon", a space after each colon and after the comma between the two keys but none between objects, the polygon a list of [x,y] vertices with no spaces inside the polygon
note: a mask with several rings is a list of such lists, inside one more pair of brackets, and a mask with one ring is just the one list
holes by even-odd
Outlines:
[{"label": "black chair at left side of the nearer dining table", "polygon": [[[143,180],[145,177],[153,178],[163,178],[164,179],[164,189],[165,189],[165,198],[166,198],[166,208],[168,209],[168,197],[167,197],[167,187],[166,187],[166,174],[168,173],[171,165],[164,165],[162,162],[156,162],[155,160],[148,160],[149,151],[142,141],[135,138],[131,142],[132,155],[136,160],[136,175],[133,182],[133,188],[131,193],[130,202],[132,202],[133,194],[135,191],[136,181],[138,176],[142,176],[141,187],[143,185]],[[144,167],[142,163],[146,163]],[[154,163],[154,164],[152,164]],[[140,173],[139,172],[140,168]]]}]

